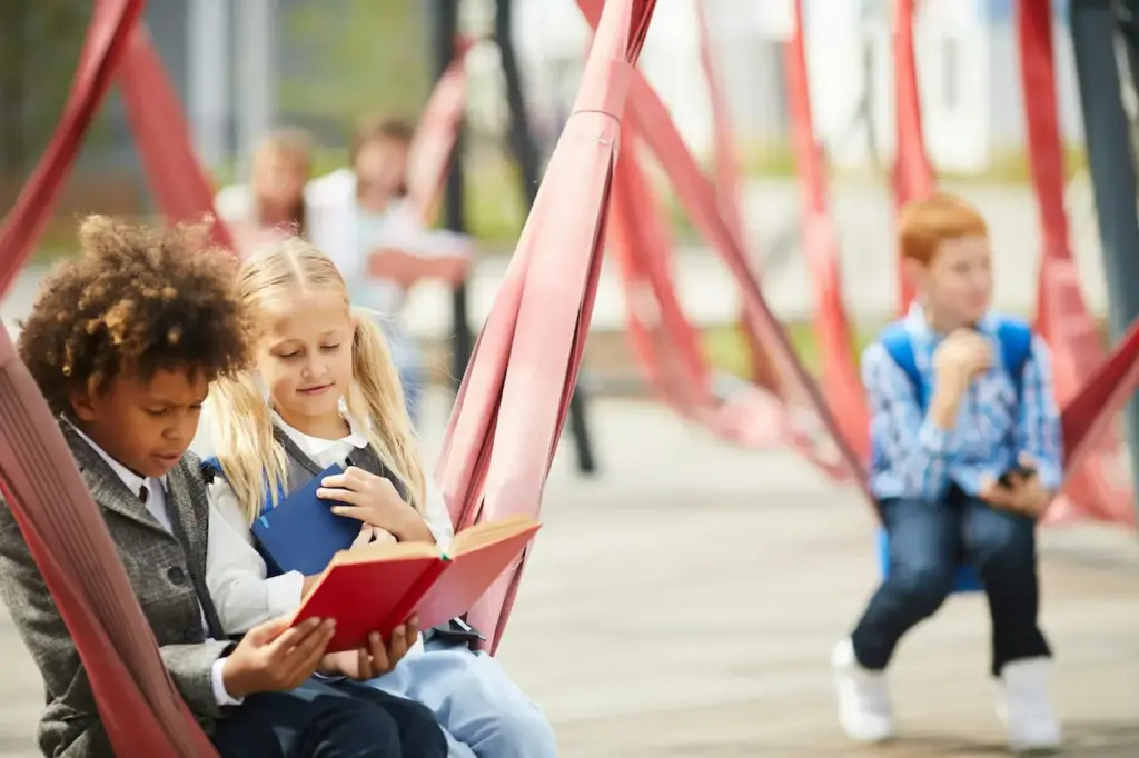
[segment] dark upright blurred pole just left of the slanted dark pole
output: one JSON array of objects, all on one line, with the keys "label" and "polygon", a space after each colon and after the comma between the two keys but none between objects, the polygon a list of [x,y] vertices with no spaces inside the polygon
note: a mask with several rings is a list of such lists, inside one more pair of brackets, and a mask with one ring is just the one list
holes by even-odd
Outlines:
[{"label": "dark upright blurred pole just left of the slanted dark pole", "polygon": [[[432,50],[434,55],[435,80],[437,81],[454,59],[454,42],[459,34],[459,1],[433,0],[432,2]],[[454,143],[454,156],[443,188],[443,223],[454,232],[466,230],[462,213],[462,143],[464,127]],[[470,333],[470,316],[467,312],[467,282],[461,281],[451,290],[451,313],[454,335],[451,338],[451,376],[456,389],[462,374],[467,372],[474,339]]]}]

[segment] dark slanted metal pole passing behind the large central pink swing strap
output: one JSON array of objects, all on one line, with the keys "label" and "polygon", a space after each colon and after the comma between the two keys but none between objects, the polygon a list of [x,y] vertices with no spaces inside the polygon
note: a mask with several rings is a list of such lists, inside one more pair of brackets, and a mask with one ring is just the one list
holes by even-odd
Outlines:
[{"label": "dark slanted metal pole passing behind the large central pink swing strap", "polygon": [[[495,0],[494,3],[494,40],[499,47],[499,60],[502,65],[502,77],[506,80],[506,100],[509,108],[509,129],[507,141],[510,151],[518,164],[522,180],[522,193],[526,207],[534,206],[538,199],[538,186],[542,181],[538,141],[526,116],[526,98],[522,86],[522,73],[518,71],[518,57],[514,48],[514,24],[511,18],[513,0]],[[573,432],[577,453],[577,470],[582,473],[597,471],[593,458],[593,446],[589,438],[589,425],[585,419],[585,393],[579,381],[570,398],[570,430]]]}]

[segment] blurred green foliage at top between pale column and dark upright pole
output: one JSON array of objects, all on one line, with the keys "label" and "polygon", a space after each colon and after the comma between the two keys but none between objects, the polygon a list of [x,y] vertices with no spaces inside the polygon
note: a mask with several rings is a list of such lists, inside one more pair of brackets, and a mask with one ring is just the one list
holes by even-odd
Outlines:
[{"label": "blurred green foliage at top between pale column and dark upright pole", "polygon": [[285,118],[319,135],[364,112],[418,113],[431,85],[426,6],[423,0],[285,3],[278,46]]}]

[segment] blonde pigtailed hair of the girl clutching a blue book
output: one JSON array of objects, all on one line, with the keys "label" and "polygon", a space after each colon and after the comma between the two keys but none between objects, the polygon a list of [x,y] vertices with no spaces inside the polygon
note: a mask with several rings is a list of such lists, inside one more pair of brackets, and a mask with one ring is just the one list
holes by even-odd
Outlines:
[{"label": "blonde pigtailed hair of the girl clutching a blue book", "polygon": [[[288,238],[245,262],[236,296],[261,324],[270,299],[318,290],[335,290],[350,307],[344,278],[328,256],[302,239]],[[404,484],[409,504],[421,512],[424,470],[399,373],[374,314],[357,310],[353,314],[358,318],[352,339],[354,379],[345,397],[349,413],[367,421],[368,443]],[[247,372],[216,381],[210,404],[218,460],[252,524],[267,497],[276,504],[279,493],[288,489],[288,460],[273,438],[269,402],[255,374]]]}]

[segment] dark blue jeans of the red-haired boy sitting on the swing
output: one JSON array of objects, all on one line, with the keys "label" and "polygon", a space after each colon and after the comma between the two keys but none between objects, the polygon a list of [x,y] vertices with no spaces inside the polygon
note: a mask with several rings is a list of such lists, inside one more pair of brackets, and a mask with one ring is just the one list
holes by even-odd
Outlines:
[{"label": "dark blue jeans of the red-haired boy sitting on the swing", "polygon": [[992,617],[992,673],[1005,664],[1050,656],[1036,621],[1035,525],[952,487],[944,503],[882,502],[890,535],[890,576],[867,605],[851,640],[859,664],[886,668],[902,635],[941,607],[957,566],[977,568]]}]

